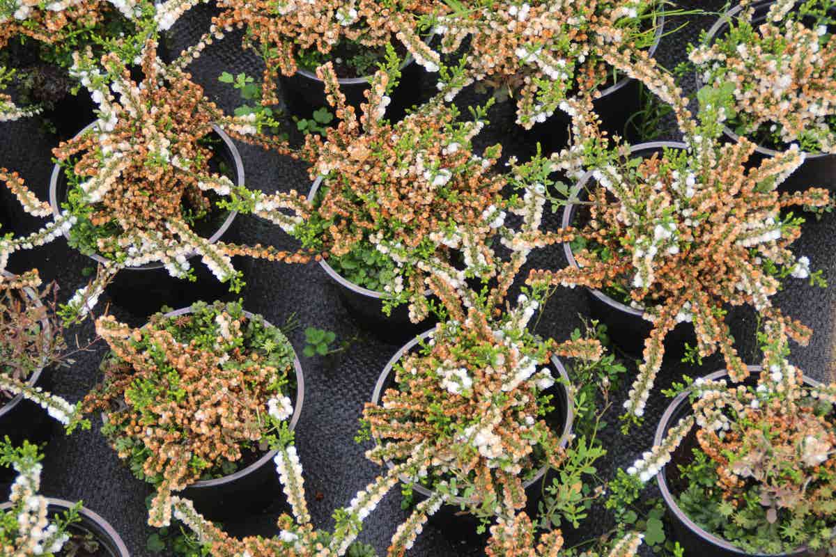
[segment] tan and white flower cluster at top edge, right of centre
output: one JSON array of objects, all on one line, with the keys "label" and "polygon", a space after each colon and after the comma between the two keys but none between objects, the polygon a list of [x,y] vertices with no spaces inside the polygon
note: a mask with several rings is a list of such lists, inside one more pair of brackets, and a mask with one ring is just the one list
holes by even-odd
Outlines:
[{"label": "tan and white flower cluster at top edge, right of centre", "polygon": [[[544,122],[575,94],[599,94],[612,78],[604,50],[640,50],[653,42],[655,0],[471,0],[441,13],[441,52],[466,39],[470,80],[517,97],[517,124]],[[618,68],[620,69],[620,68]]]}]

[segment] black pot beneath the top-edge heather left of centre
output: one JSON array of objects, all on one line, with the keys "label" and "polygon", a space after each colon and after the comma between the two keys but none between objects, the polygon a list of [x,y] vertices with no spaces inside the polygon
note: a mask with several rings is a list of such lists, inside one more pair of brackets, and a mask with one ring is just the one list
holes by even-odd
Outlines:
[{"label": "black pot beneath the top-edge heather left of centre", "polygon": [[[386,109],[386,117],[398,120],[403,117],[406,109],[421,99],[420,79],[424,68],[415,63],[411,56],[407,56],[400,64],[400,81],[390,95],[391,104]],[[359,116],[360,104],[367,103],[365,91],[370,89],[371,76],[361,78],[338,78],[339,90],[345,95],[345,102],[354,107],[354,114]],[[311,118],[314,110],[325,107],[333,112],[331,105],[325,98],[325,85],[316,73],[298,68],[292,76],[279,74],[279,84],[284,93],[284,102],[288,112],[298,118]]]}]

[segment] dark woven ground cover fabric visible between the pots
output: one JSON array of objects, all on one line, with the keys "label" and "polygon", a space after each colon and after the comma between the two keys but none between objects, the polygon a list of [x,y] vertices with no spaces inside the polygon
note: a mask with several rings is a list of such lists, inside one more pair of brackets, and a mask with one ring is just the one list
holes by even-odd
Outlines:
[{"label": "dark woven ground cover fabric visible between the pots", "polygon": [[[679,8],[719,9],[721,3],[700,3],[696,0],[679,4]],[[178,23],[171,33],[171,44],[175,49],[193,41],[207,27],[210,8],[199,7]],[[699,30],[706,28],[713,17],[681,17],[668,21],[668,29],[686,24],[676,33],[662,39],[657,56],[668,68],[681,61],[686,52],[686,45],[696,39]],[[260,74],[262,65],[252,53],[245,53],[237,37],[227,38],[216,43],[191,67],[197,82],[206,87],[210,98],[226,109],[237,106],[237,93],[217,82],[222,71],[232,73],[247,72],[252,76]],[[689,80],[690,82],[690,80]],[[690,83],[686,83],[690,86]],[[430,94],[433,84],[428,78],[422,85],[425,94]],[[687,89],[687,88],[686,88]],[[474,94],[465,94],[459,101],[462,106],[469,103],[483,102],[484,99]],[[502,141],[506,152],[530,152],[531,144],[526,134],[513,124],[512,107],[508,104],[497,105],[491,111],[492,125],[486,129],[480,139],[484,144]],[[667,133],[660,139],[677,139],[675,130],[666,123]],[[36,120],[0,124],[0,165],[18,170],[28,181],[30,187],[47,198],[50,163],[50,149],[56,144],[54,136],[44,131]],[[304,165],[276,154],[264,153],[261,149],[239,144],[246,171],[247,185],[265,191],[287,191],[291,189],[305,191],[309,189],[307,171]],[[8,196],[3,197],[8,204]],[[0,214],[2,216],[2,214]],[[6,218],[6,217],[3,217]],[[554,225],[558,215],[549,217],[549,225]],[[35,230],[38,221],[29,218],[15,218],[13,222],[3,222],[3,230],[23,232]],[[813,268],[824,271],[828,281],[836,281],[836,253],[833,249],[833,235],[836,231],[836,217],[829,215],[822,220],[809,220],[804,226],[804,235],[794,249],[798,255],[810,257]],[[288,240],[278,227],[270,226],[253,218],[238,218],[232,234],[241,241],[262,242],[292,249],[293,242]],[[566,265],[563,252],[559,249],[540,251],[533,254],[531,266],[559,268]],[[81,271],[90,266],[91,261],[70,249],[64,240],[36,251],[27,251],[13,256],[13,270],[37,266],[46,280],[56,279],[62,288],[62,298],[66,300],[79,287],[84,279]],[[334,508],[349,503],[354,493],[363,489],[375,478],[380,469],[364,458],[367,445],[354,443],[357,420],[363,404],[370,399],[375,381],[398,346],[380,342],[373,335],[366,333],[352,320],[349,312],[339,300],[338,287],[329,281],[319,266],[314,263],[306,266],[287,266],[263,261],[237,261],[238,268],[245,273],[247,287],[242,291],[244,307],[248,311],[260,313],[270,322],[283,323],[295,313],[303,326],[312,325],[332,330],[340,338],[360,335],[348,352],[332,358],[302,358],[305,373],[305,400],[303,413],[297,428],[298,452],[301,456],[305,489],[308,504],[319,527],[329,528],[333,524],[330,518]],[[824,379],[828,376],[833,362],[833,289],[819,289],[807,286],[803,281],[793,281],[792,288],[776,296],[777,303],[788,315],[800,318],[813,327],[815,334],[809,347],[794,347],[793,362],[811,377]],[[137,292],[136,296],[142,296]],[[102,302],[106,302],[103,297]],[[581,289],[563,289],[553,296],[538,325],[538,332],[558,340],[567,337],[574,327],[579,325],[579,315],[588,311],[588,302]],[[149,306],[144,313],[125,311],[117,305],[111,305],[110,311],[118,318],[131,325],[140,326],[150,313],[158,308]],[[742,312],[734,323],[734,331],[741,345],[742,354],[753,353],[754,319],[751,314]],[[92,326],[86,323],[70,331],[69,339],[77,334],[80,339],[92,335]],[[297,352],[303,347],[301,329],[290,335]],[[55,374],[55,392],[74,402],[98,381],[98,367],[104,348],[99,345],[94,351],[77,357],[73,367]],[[635,363],[628,362],[630,372],[635,371]],[[659,387],[666,387],[683,372],[694,377],[715,371],[721,364],[711,358],[702,367],[686,367],[668,358],[660,374]],[[630,373],[627,382],[630,382]],[[620,393],[614,413],[620,408],[624,391]],[[629,436],[622,436],[610,427],[604,430],[602,438],[609,454],[599,463],[599,470],[604,477],[610,477],[614,469],[631,463],[644,450],[650,447],[652,436],[660,414],[667,405],[665,397],[658,389],[650,397],[646,410],[646,422],[642,428],[634,429]],[[616,423],[614,415],[609,423]],[[3,432],[0,432],[2,434]],[[145,525],[144,499],[149,494],[149,487],[134,479],[127,468],[120,463],[115,453],[107,446],[99,434],[99,423],[94,421],[91,431],[74,433],[65,437],[55,432],[46,449],[43,471],[43,494],[62,499],[83,499],[90,509],[104,516],[122,535],[131,554],[137,557],[150,555],[145,549],[146,538],[153,532]],[[391,534],[397,524],[405,519],[406,511],[400,509],[400,494],[387,496],[378,509],[367,520],[361,540],[375,545],[379,554],[385,554]],[[276,494],[281,500],[280,494]],[[650,489],[650,496],[654,490]],[[276,516],[282,512],[282,504],[275,504],[263,512],[240,516],[227,522],[227,529],[239,535],[273,534]],[[456,555],[480,555],[480,545],[456,538],[456,525],[440,528],[436,524],[427,525],[424,533],[415,543],[410,554],[418,557],[453,557]],[[568,544],[581,539],[603,534],[611,527],[607,515],[597,510],[584,523],[581,532],[566,531]],[[646,549],[643,549],[646,553]]]}]

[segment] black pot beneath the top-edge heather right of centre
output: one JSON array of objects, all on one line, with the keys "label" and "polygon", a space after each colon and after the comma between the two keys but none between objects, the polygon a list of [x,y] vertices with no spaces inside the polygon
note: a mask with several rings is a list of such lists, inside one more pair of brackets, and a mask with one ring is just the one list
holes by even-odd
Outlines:
[{"label": "black pot beneath the top-edge heather right of centre", "polygon": [[[660,6],[660,8],[664,8]],[[656,27],[655,41],[648,49],[651,57],[659,48],[659,43],[664,34],[665,13],[661,13]],[[618,135],[631,143],[643,141],[643,137],[635,137],[627,127],[630,118],[641,108],[640,84],[633,78],[624,76],[616,83],[601,91],[600,96],[594,99],[595,114],[601,119],[601,129],[607,130],[609,136]],[[563,110],[556,110],[545,122],[534,124],[528,132],[530,136],[543,146],[543,153],[553,153],[563,149],[568,144],[568,129],[572,119]]]}]

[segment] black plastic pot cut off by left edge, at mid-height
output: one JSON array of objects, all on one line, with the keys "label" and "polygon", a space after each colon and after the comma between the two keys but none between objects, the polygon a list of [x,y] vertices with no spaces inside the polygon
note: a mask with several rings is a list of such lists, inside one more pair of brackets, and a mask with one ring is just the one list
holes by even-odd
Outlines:
[{"label": "black plastic pot cut off by left edge, at mid-height", "polygon": [[[3,275],[12,276],[7,271],[3,271]],[[28,290],[27,293],[34,297],[34,292],[30,293]],[[42,334],[52,334],[48,321],[43,320],[41,327]],[[27,383],[29,387],[40,387],[44,391],[49,391],[53,387],[52,377],[43,367],[33,372]],[[47,411],[37,403],[23,398],[23,395],[18,394],[0,405],[0,438],[8,435],[12,443],[17,446],[23,444],[24,439],[31,443],[45,443],[50,433],[52,433],[52,422],[48,418]],[[0,484],[8,483],[13,477],[14,473],[11,468],[0,468]]]}]

